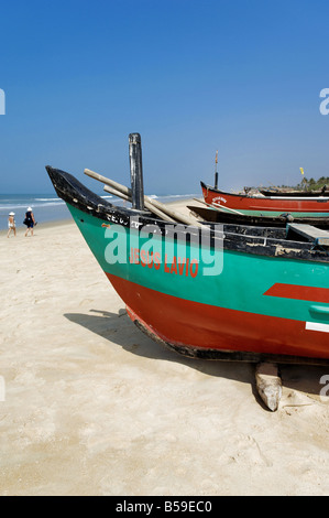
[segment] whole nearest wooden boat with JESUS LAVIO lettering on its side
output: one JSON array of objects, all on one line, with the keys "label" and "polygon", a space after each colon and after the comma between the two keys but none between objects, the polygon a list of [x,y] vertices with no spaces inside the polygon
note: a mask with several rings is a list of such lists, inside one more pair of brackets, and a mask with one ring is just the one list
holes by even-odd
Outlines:
[{"label": "whole nearest wooden boat with JESUS LAVIO lettering on its side", "polygon": [[198,358],[328,363],[326,230],[177,224],[136,208],[139,190],[122,207],[46,170],[129,316],[156,342]]}]

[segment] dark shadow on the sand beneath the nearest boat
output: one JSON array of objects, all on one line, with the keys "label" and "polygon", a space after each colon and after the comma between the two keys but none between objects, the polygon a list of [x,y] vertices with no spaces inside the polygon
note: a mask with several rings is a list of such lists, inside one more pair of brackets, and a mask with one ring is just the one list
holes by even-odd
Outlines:
[{"label": "dark shadow on the sand beneath the nearest boat", "polygon": [[[255,364],[248,361],[194,359],[179,355],[155,343],[142,333],[131,322],[124,309],[121,309],[119,313],[90,310],[89,313],[66,313],[64,316],[102,338],[120,345],[131,354],[156,360],[180,363],[208,376],[234,379],[248,384],[257,402],[268,410],[261,401],[255,387]],[[320,390],[323,388],[323,385],[320,384],[322,376],[328,375],[329,380],[329,366],[285,364],[279,365],[279,370],[283,386],[309,395],[318,396],[320,393]],[[327,381],[327,385],[329,386],[329,381]]]}]

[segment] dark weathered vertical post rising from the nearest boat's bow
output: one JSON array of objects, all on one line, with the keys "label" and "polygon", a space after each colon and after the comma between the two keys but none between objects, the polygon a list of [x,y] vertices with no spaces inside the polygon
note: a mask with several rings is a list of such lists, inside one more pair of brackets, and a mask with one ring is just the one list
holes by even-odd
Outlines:
[{"label": "dark weathered vertical post rising from the nearest boat's bow", "polygon": [[130,180],[132,208],[144,211],[142,141],[140,133],[129,136]]}]

